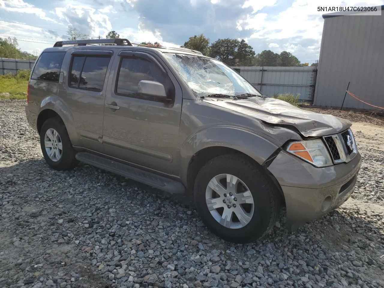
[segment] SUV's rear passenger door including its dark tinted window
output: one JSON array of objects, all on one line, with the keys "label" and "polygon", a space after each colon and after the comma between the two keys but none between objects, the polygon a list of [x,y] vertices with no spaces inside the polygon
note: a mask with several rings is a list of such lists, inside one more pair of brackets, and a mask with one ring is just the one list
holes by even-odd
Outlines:
[{"label": "SUV's rear passenger door including its dark tinted window", "polygon": [[79,146],[103,152],[103,113],[113,51],[73,49],[68,52],[65,89],[59,96],[71,109]]}]

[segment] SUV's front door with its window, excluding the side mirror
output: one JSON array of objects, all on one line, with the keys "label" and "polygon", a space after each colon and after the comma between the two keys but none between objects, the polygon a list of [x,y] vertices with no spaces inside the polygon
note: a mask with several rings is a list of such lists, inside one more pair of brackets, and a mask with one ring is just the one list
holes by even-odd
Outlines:
[{"label": "SUV's front door with its window, excluding the side mirror", "polygon": [[[182,105],[179,84],[154,55],[121,51],[113,67],[116,72],[108,83],[104,108],[106,153],[175,175]],[[162,102],[138,93],[141,80],[163,84],[169,100]]]}]

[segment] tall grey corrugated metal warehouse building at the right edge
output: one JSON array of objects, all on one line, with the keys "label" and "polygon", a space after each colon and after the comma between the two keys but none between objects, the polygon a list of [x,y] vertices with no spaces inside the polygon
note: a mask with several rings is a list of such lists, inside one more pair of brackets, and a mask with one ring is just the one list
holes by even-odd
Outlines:
[{"label": "tall grey corrugated metal warehouse building at the right edge", "polygon": [[[377,8],[383,15],[323,15],[314,105],[341,107],[350,81],[351,93],[384,107],[384,5]],[[344,107],[377,109],[349,94]]]}]

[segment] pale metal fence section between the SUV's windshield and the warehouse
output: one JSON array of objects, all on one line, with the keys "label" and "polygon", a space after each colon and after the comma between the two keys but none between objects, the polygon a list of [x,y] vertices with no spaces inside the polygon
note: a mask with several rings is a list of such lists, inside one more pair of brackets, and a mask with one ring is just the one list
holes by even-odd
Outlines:
[{"label": "pale metal fence section between the SUV's windshield and the warehouse", "polygon": [[278,93],[300,94],[300,99],[311,101],[314,66],[259,67],[242,66],[240,74],[266,96]]}]

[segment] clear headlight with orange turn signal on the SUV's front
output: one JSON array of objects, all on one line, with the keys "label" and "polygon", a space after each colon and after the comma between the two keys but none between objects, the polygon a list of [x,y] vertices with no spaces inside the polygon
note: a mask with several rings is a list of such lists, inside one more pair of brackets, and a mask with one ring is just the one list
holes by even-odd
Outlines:
[{"label": "clear headlight with orange turn signal on the SUV's front", "polygon": [[310,162],[316,167],[333,165],[328,150],[321,139],[291,142],[287,152]]}]

